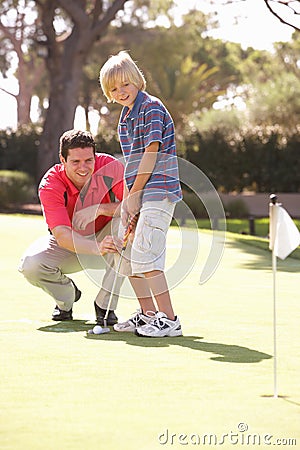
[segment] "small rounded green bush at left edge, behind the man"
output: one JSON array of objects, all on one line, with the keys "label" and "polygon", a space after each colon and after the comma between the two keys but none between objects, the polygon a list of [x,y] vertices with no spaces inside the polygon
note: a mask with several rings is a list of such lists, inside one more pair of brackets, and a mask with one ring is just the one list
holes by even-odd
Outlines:
[{"label": "small rounded green bush at left edge, behind the man", "polygon": [[0,170],[0,206],[9,207],[36,201],[33,178],[17,170]]}]

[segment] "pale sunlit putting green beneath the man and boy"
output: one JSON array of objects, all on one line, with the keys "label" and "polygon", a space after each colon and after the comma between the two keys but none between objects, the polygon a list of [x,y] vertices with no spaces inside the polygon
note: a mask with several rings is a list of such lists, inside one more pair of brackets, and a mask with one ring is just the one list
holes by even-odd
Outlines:
[{"label": "pale sunlit putting green beneath the man and boy", "polygon": [[[98,287],[75,274],[83,291],[75,320],[51,321],[54,302],[17,271],[47,232],[43,219],[0,215],[0,226],[1,450],[300,448],[299,260],[278,261],[275,399],[266,243],[227,233],[218,269],[200,285],[211,233],[185,230],[182,254],[171,228],[167,273],[184,336],[87,336]],[[125,285],[121,320],[137,308]]]}]

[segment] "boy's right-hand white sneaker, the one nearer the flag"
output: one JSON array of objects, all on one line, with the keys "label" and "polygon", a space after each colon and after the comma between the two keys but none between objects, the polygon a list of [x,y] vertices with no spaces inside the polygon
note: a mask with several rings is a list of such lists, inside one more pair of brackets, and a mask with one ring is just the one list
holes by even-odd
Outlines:
[{"label": "boy's right-hand white sneaker, the one nearer the flag", "polygon": [[182,330],[177,316],[175,320],[170,320],[165,313],[158,312],[149,323],[138,326],[135,334],[145,337],[175,337],[182,336]]}]

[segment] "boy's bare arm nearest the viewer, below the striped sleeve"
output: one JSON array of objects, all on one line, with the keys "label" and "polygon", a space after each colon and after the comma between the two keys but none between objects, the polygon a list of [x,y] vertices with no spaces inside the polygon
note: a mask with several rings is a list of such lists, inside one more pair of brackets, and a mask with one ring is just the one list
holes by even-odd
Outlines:
[{"label": "boy's bare arm nearest the viewer, below the striped sleeve", "polygon": [[159,142],[156,141],[151,142],[151,144],[145,148],[136,179],[126,199],[127,210],[131,217],[135,216],[141,209],[141,196],[155,167],[158,149]]}]

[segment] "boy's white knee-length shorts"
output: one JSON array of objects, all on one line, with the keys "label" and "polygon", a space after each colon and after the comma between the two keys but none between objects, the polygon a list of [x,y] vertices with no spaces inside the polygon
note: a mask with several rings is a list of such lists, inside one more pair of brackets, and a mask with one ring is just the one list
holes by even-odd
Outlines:
[{"label": "boy's white knee-length shorts", "polygon": [[143,204],[131,248],[133,275],[164,270],[166,237],[174,209],[175,203],[168,199]]}]

